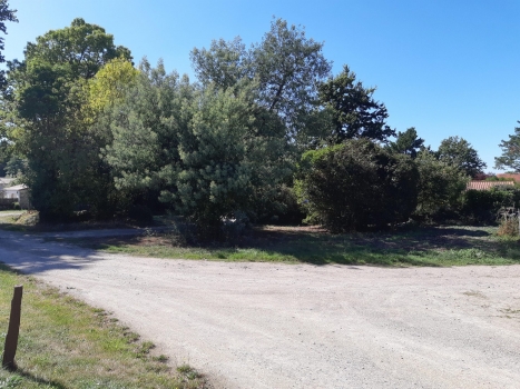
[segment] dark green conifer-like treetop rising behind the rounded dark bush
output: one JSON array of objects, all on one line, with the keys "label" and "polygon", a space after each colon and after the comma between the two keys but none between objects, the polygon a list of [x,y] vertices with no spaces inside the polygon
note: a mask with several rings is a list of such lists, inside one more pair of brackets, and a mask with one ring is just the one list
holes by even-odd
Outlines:
[{"label": "dark green conifer-like treetop rising behind the rounded dark bush", "polygon": [[385,141],[395,131],[386,126],[386,107],[373,99],[375,88],[364,88],[355,80],[355,73],[345,64],[343,71],[323,82],[320,101],[332,112],[334,132],[330,141],[339,143],[345,139],[369,138]]}]

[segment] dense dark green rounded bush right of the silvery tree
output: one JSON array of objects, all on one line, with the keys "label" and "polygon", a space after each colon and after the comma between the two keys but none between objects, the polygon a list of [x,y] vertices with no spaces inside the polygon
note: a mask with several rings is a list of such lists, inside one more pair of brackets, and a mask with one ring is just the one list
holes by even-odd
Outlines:
[{"label": "dense dark green rounded bush right of the silvery tree", "polygon": [[333,231],[382,228],[406,221],[415,209],[413,161],[367,139],[307,151],[301,169],[298,198]]}]

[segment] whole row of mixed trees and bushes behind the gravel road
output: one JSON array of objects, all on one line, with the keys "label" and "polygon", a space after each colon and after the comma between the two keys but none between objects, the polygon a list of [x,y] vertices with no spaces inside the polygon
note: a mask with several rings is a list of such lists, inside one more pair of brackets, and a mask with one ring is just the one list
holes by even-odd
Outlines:
[{"label": "whole row of mixed trees and bushes behind the gravel road", "polygon": [[207,233],[229,219],[383,227],[453,206],[485,168],[462,138],[432,150],[414,128],[392,129],[375,89],[346,64],[332,74],[323,43],[283,19],[251,48],[214,40],[190,60],[195,81],[136,67],[75,19],[8,61],[3,169],[42,220],[169,210]]}]

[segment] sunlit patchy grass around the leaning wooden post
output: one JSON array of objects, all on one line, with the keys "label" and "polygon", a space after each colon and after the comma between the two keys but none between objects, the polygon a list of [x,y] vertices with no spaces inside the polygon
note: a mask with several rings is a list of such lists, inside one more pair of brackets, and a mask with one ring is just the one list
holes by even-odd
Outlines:
[{"label": "sunlit patchy grass around the leaning wooden post", "polygon": [[[18,370],[0,388],[204,388],[199,373],[171,370],[154,345],[100,309],[0,265],[0,353],[12,288],[23,285]],[[193,368],[190,368],[190,371]]]}]

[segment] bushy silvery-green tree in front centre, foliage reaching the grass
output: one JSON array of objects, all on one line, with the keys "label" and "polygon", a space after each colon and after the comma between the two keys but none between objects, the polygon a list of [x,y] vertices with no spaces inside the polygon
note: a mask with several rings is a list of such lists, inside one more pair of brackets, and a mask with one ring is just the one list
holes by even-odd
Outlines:
[{"label": "bushy silvery-green tree in front centre, foliage reaching the grass", "polygon": [[284,127],[249,88],[197,90],[185,77],[145,64],[111,123],[107,160],[118,188],[159,190],[202,231],[272,199],[290,174]]}]

